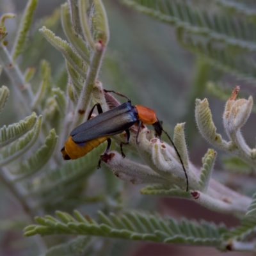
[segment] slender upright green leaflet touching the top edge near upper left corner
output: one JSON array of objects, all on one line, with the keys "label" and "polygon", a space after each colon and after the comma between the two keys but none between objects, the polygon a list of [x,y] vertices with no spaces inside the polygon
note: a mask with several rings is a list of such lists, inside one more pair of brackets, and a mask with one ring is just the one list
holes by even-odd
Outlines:
[{"label": "slender upright green leaflet touching the top edge near upper left corner", "polygon": [[35,12],[37,3],[38,3],[38,0],[29,0],[27,3],[26,10],[24,11],[24,15],[20,23],[19,33],[17,33],[17,37],[13,45],[13,50],[12,50],[13,60],[16,60],[19,54],[22,53],[24,49],[26,37],[32,23],[33,13]]}]

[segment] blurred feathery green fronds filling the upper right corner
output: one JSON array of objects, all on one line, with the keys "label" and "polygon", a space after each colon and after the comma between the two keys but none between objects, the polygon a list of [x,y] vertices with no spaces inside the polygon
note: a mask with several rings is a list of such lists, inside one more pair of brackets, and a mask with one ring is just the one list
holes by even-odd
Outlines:
[{"label": "blurred feathery green fronds filling the upper right corner", "polygon": [[[120,1],[173,26],[180,45],[205,64],[222,74],[229,73],[250,84],[256,83],[253,64],[256,49],[255,5],[249,1],[210,1],[212,10],[215,9],[212,12],[204,3],[193,1]],[[216,80],[220,79],[216,77]]]}]

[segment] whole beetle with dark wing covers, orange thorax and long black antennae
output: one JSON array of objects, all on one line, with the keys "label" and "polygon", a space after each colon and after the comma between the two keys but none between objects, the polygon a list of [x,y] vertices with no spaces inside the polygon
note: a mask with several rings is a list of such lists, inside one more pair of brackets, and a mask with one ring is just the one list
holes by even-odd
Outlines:
[{"label": "whole beetle with dark wing covers, orange thorax and long black antennae", "polygon": [[[179,151],[175,147],[172,139],[166,131],[164,131],[161,122],[156,116],[156,112],[145,106],[131,104],[131,99],[129,97],[115,92],[104,90],[107,93],[115,93],[118,96],[124,97],[128,101],[116,106],[115,108],[109,109],[106,112],[102,111],[99,103],[95,104],[91,109],[88,120],[83,124],[77,126],[74,130],[70,132],[68,140],[65,142],[65,146],[61,148],[61,153],[63,154],[64,160],[77,159],[79,157],[85,156],[87,153],[93,150],[93,148],[98,147],[104,141],[108,141],[108,146],[104,154],[108,154],[109,148],[111,146],[111,136],[120,134],[121,132],[126,132],[126,143],[120,143],[120,149],[122,156],[125,157],[122,150],[123,144],[129,144],[130,132],[129,128],[132,125],[138,125],[138,132],[136,134],[136,143],[139,144],[138,136],[140,134],[140,128],[142,124],[149,124],[154,127],[156,136],[161,138],[162,132],[166,134],[168,139],[171,141],[173,148],[175,149],[177,156],[180,159],[182,168],[186,175],[187,189],[188,191],[188,175],[184,167],[183,161],[180,157]],[[99,115],[92,117],[93,110],[97,107]],[[98,164],[100,168],[100,161]]]}]

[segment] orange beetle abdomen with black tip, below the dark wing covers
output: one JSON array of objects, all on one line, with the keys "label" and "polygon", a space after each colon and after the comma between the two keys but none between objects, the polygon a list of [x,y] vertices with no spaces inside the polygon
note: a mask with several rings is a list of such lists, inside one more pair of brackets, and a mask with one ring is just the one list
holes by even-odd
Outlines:
[{"label": "orange beetle abdomen with black tip, below the dark wing covers", "polygon": [[108,140],[108,138],[108,136],[95,138],[93,140],[87,141],[86,143],[84,143],[83,146],[81,146],[77,145],[72,140],[72,136],[69,136],[68,141],[65,142],[65,147],[61,150],[63,154],[63,159],[68,160],[83,157],[87,153],[91,152],[93,148],[97,148],[101,143]]}]

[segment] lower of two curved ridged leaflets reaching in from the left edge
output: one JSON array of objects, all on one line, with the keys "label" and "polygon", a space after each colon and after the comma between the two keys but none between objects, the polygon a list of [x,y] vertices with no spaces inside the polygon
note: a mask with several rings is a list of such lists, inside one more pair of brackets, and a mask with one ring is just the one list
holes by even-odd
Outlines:
[{"label": "lower of two curved ridged leaflets reaching in from the left edge", "polygon": [[42,124],[42,116],[39,116],[36,120],[34,128],[27,132],[24,138],[20,138],[18,141],[13,142],[11,145],[1,148],[0,150],[0,167],[11,163],[17,157],[22,156],[29,148],[31,148],[36,142],[40,128]]}]

